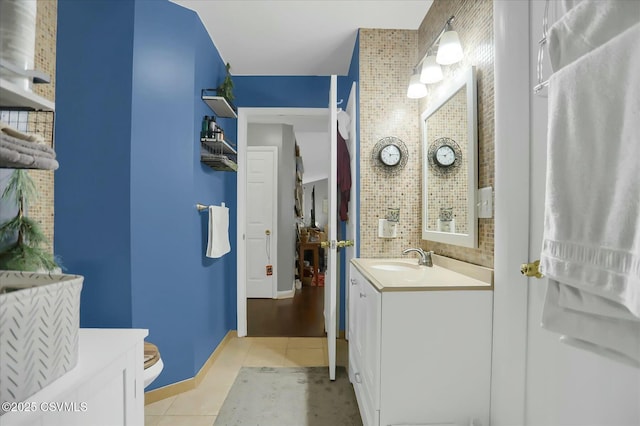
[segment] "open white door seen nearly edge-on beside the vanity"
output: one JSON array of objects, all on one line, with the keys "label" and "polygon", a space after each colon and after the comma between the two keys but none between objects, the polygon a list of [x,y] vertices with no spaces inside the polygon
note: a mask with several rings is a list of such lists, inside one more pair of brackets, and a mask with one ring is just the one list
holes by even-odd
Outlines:
[{"label": "open white door seen nearly edge-on beside the vanity", "polygon": [[336,378],[336,338],[338,318],[338,267],[337,267],[337,227],[338,227],[338,79],[331,76],[329,89],[329,135],[331,142],[331,170],[329,172],[329,233],[327,248],[327,273],[324,287],[324,326],[327,331],[327,352],[329,359],[329,379]]}]

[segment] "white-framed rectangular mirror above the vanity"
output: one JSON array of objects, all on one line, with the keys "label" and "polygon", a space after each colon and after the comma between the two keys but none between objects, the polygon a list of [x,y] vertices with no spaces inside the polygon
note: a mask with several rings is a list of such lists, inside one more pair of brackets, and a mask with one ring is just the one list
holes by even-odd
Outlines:
[{"label": "white-framed rectangular mirror above the vanity", "polygon": [[475,67],[422,113],[422,239],[478,246]]}]

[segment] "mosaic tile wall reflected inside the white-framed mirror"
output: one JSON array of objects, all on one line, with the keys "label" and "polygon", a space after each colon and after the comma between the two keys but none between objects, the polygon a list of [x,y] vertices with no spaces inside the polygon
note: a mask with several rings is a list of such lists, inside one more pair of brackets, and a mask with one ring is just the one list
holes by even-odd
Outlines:
[{"label": "mosaic tile wall reflected inside the white-framed mirror", "polygon": [[[437,166],[431,165],[427,168],[427,188],[429,202],[428,229],[433,231],[444,231],[438,228],[438,217],[440,208],[453,209],[455,219],[455,230],[452,232],[466,234],[467,226],[467,94],[461,89],[452,96],[442,107],[435,111],[428,119],[427,143],[433,144],[437,139],[446,137],[455,141],[460,148],[460,158],[456,159],[459,165],[447,171],[438,173]],[[425,161],[426,162],[426,161]]]}]

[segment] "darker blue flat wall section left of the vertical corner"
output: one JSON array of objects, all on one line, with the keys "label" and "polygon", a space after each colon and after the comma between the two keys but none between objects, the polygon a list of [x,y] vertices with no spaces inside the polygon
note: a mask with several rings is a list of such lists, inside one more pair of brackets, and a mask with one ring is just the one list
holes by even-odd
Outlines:
[{"label": "darker blue flat wall section left of the vertical corner", "polygon": [[133,10],[133,1],[58,2],[54,251],[85,276],[84,327],[132,325]]}]

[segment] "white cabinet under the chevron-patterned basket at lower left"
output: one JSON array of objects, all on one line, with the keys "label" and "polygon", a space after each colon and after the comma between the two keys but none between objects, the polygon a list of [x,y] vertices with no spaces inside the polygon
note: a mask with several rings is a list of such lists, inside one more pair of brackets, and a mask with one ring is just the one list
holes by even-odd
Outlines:
[{"label": "white cabinet under the chevron-patterned basket at lower left", "polygon": [[2,426],[144,424],[142,329],[80,329],[78,364],[0,416]]}]

